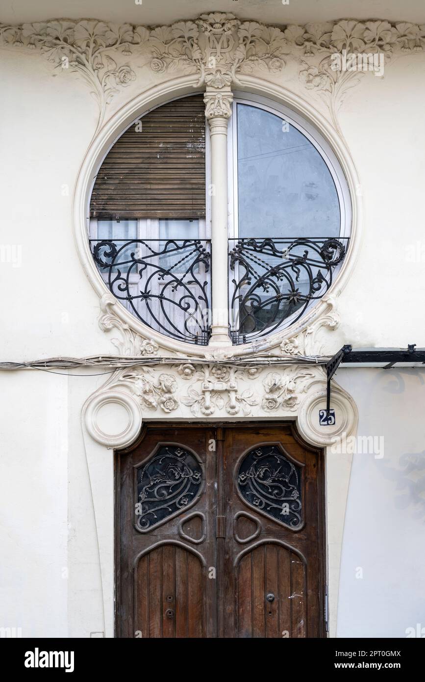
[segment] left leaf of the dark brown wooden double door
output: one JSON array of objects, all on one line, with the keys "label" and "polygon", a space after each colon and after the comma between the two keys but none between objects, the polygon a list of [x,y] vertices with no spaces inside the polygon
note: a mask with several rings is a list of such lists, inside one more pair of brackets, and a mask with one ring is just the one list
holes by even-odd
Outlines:
[{"label": "left leaf of the dark brown wooden double door", "polygon": [[208,580],[217,562],[213,436],[210,428],[150,426],[119,454],[121,637],[217,634],[216,581]]}]

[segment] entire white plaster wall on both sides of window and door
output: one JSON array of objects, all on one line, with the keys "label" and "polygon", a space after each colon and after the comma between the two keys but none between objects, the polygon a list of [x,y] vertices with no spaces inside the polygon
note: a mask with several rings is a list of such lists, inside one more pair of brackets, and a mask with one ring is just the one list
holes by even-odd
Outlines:
[{"label": "entire white plaster wall on both sides of window and door", "polygon": [[[58,73],[36,51],[2,50],[0,69],[0,244],[21,250],[19,267],[0,264],[1,359],[112,353],[72,232],[72,192],[95,129],[95,103],[82,80]],[[341,109],[365,220],[358,262],[339,299],[334,349],[348,342],[425,345],[424,76],[424,56],[400,57],[383,80],[366,74]],[[153,75],[139,65],[138,79],[117,95],[111,113]],[[303,96],[315,104],[313,93]],[[416,243],[419,257],[407,261],[406,249]],[[422,469],[415,466],[425,465],[418,460],[408,472],[413,482],[400,472],[403,455],[425,449],[423,375],[401,376],[403,390],[394,372],[338,374],[358,404],[359,433],[385,436],[383,460],[354,456],[339,636],[404,636],[424,612]],[[0,626],[22,627],[24,636],[89,636],[104,629],[104,614],[80,417],[104,379],[29,370],[1,380]],[[362,580],[355,577],[358,566]]]}]

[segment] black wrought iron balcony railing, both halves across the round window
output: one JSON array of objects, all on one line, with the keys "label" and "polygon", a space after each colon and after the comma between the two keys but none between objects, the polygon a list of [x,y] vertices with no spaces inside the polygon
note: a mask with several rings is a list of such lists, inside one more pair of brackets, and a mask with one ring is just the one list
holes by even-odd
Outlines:
[{"label": "black wrought iron balcony railing, both halves across the round window", "polygon": [[[230,335],[241,344],[296,322],[332,284],[348,238],[229,240]],[[91,239],[112,294],[140,321],[207,345],[211,318],[208,239]]]}]

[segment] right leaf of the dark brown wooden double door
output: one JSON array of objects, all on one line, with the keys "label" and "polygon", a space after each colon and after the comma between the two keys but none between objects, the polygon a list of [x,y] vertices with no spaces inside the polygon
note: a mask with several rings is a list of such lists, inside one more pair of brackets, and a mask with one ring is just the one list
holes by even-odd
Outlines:
[{"label": "right leaf of the dark brown wooden double door", "polygon": [[289,425],[228,427],[223,451],[225,637],[322,636],[319,452]]}]

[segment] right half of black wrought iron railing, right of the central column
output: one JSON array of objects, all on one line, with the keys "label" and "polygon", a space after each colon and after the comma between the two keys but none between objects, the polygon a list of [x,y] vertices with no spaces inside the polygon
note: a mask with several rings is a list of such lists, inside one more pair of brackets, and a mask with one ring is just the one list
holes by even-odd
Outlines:
[{"label": "right half of black wrought iron railing, right of the central column", "polygon": [[231,239],[233,342],[245,343],[296,322],[320,299],[342,263],[348,239]]}]

